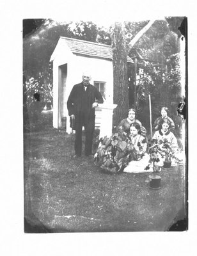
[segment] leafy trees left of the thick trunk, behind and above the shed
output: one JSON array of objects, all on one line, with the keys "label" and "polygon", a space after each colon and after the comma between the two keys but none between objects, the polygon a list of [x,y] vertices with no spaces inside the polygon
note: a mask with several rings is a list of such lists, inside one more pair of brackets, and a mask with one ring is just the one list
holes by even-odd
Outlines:
[{"label": "leafy trees left of the thick trunk, behind and above the shed", "polygon": [[49,63],[49,60],[59,36],[111,43],[110,31],[99,28],[93,22],[24,20],[24,28],[24,33],[28,33],[24,36],[23,44],[23,69],[27,81],[25,91],[28,105],[33,102],[33,94],[36,92],[40,93],[42,102],[52,104],[52,63]]}]

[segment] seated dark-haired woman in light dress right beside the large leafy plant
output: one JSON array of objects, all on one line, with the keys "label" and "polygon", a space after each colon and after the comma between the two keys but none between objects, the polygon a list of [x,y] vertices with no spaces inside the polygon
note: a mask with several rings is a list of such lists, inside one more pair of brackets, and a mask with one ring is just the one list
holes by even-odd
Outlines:
[{"label": "seated dark-haired woman in light dress right beside the large leafy plant", "polygon": [[125,167],[123,172],[139,173],[145,172],[145,166],[148,164],[149,156],[146,153],[147,142],[144,136],[141,135],[140,125],[136,122],[130,124],[130,141],[134,146],[132,150],[132,161]]}]

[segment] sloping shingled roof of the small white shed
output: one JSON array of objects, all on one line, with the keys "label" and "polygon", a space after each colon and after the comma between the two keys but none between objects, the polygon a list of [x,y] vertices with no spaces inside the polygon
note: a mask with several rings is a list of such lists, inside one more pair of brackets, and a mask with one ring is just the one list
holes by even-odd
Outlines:
[{"label": "sloping shingled roof of the small white shed", "polygon": [[[98,44],[64,36],[61,36],[60,38],[67,42],[70,51],[72,51],[74,54],[112,60],[113,55],[111,45]],[[127,61],[133,63],[129,56],[127,57]]]}]

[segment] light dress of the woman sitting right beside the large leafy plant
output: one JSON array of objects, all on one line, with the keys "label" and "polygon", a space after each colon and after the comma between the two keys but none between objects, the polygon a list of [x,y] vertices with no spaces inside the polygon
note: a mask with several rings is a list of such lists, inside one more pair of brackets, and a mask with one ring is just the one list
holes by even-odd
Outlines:
[{"label": "light dress of the woman sitting right beside the large leafy plant", "polygon": [[[147,143],[143,143],[142,141],[145,139],[140,134],[136,136],[130,136],[132,144],[134,145],[134,153],[137,156],[137,161],[130,161],[130,163],[125,167],[123,172],[129,173],[140,173],[140,172],[147,172],[145,171],[145,167],[148,165],[148,161],[150,157],[146,153],[147,150]],[[148,172],[152,172],[152,170],[148,170]]]}]

